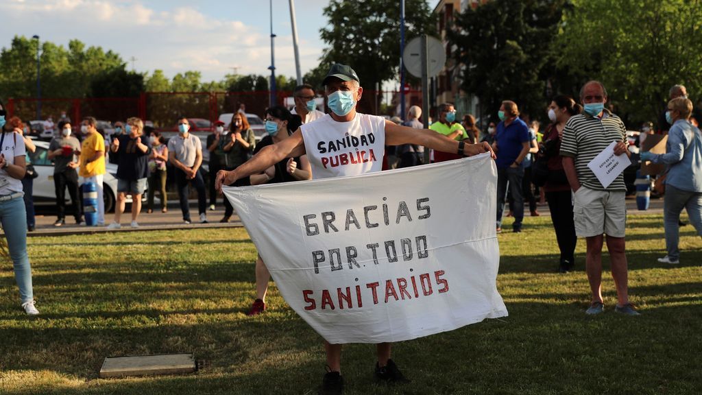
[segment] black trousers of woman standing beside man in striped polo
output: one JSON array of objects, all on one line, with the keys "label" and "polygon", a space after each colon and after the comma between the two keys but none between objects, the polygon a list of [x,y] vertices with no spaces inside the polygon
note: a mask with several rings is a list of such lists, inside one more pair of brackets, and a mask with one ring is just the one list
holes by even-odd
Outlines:
[{"label": "black trousers of woman standing beside man in striped polo", "polygon": [[[573,221],[573,200],[571,191],[547,192],[548,208],[551,211],[551,221],[556,231],[556,241],[558,249],[561,251],[560,265],[565,268],[573,266],[575,257],[575,246],[578,237],[575,234],[575,223]],[[564,264],[568,261],[568,264]]]}]

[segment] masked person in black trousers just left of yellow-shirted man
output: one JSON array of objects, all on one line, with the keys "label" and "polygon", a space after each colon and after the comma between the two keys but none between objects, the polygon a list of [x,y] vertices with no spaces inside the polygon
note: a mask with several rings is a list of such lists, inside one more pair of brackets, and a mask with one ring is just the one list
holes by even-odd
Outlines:
[{"label": "masked person in black trousers just left of yellow-shirted man", "polygon": [[58,130],[61,136],[56,136],[48,145],[48,159],[53,160],[53,185],[56,191],[56,212],[58,218],[53,226],[66,224],[66,188],[71,197],[71,209],[76,224],[83,224],[83,202],[79,199],[78,157],[81,153],[81,143],[72,136],[71,124],[59,122]]}]

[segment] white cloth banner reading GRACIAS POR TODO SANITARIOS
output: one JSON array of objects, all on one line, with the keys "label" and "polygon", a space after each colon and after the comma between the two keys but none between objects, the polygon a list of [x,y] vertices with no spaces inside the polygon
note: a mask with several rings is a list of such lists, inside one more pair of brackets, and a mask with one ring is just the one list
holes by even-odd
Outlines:
[{"label": "white cloth banner reading GRACIAS POR TODO SANITARIOS", "polygon": [[330,343],[397,342],[507,316],[489,154],[224,188],[293,310]]}]

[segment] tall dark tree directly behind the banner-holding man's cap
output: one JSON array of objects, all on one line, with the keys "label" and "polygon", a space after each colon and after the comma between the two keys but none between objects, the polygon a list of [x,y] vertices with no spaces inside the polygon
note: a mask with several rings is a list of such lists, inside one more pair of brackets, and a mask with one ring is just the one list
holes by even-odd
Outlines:
[{"label": "tall dark tree directly behind the banner-holding man's cap", "polygon": [[[435,32],[427,1],[406,0],[405,9],[408,39]],[[375,90],[380,82],[397,77],[399,2],[331,0],[324,7],[324,15],[329,19],[329,25],[320,30],[320,37],[329,46],[324,50],[319,67],[325,74],[331,63],[350,65],[359,75],[361,85],[369,91]]]}]

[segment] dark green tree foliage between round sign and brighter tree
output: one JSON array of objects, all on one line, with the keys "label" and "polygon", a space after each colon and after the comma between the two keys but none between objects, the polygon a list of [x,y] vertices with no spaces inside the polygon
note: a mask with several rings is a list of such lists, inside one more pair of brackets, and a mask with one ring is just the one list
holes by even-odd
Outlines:
[{"label": "dark green tree foliage between round sign and brighter tree", "polygon": [[522,112],[543,112],[543,71],[554,60],[550,43],[563,6],[563,0],[495,0],[457,15],[448,39],[457,46],[456,60],[468,65],[461,87],[480,98],[492,119],[504,100]]}]

